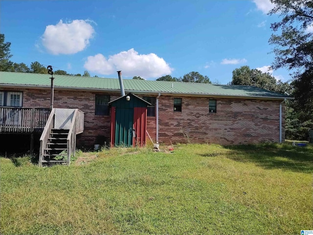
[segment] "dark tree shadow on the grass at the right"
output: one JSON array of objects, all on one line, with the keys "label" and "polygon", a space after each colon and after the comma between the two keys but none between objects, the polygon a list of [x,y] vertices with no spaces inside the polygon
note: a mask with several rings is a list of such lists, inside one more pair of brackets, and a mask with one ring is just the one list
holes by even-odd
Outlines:
[{"label": "dark tree shadow on the grass at the right", "polygon": [[249,162],[265,169],[284,169],[296,172],[313,172],[313,145],[306,147],[291,144],[232,145],[226,157],[238,162]]}]

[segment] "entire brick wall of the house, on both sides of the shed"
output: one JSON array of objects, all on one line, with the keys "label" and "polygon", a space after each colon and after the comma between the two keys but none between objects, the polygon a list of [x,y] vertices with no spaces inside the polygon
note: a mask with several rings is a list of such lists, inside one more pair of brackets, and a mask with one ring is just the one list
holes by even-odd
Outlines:
[{"label": "entire brick wall of the house, on both sides of the shed", "polygon": [[[50,107],[48,89],[9,89],[9,91],[23,92],[25,108]],[[97,136],[104,136],[105,140],[110,142],[111,118],[94,115],[95,94],[109,94],[111,101],[120,96],[118,93],[80,90],[55,90],[54,93],[54,108],[78,108],[85,113],[85,131],[77,136],[77,143],[78,146],[86,148],[95,143]],[[181,112],[174,112],[174,96],[161,95],[159,98],[160,143],[186,142],[187,136],[190,142],[201,143],[279,141],[281,101],[217,98],[217,113],[209,113],[209,98],[187,96],[181,98]],[[283,106],[283,126],[284,120]],[[153,141],[156,141],[156,117],[147,117],[147,131]],[[283,140],[284,137],[283,128]],[[148,136],[146,139],[149,141]]]}]

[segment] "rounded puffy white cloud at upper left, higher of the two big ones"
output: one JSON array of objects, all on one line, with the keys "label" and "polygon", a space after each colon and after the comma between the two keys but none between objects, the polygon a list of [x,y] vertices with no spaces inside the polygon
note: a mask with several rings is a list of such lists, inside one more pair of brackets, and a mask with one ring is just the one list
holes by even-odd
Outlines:
[{"label": "rounded puffy white cloud at upper left, higher of the two big ones", "polygon": [[94,29],[89,20],[74,20],[45,27],[42,43],[51,54],[75,54],[84,50],[93,37]]}]

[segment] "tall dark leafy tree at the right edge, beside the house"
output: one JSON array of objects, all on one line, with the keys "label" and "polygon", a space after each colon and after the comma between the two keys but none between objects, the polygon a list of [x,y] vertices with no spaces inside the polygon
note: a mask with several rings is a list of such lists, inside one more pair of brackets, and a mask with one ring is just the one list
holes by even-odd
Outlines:
[{"label": "tall dark leafy tree at the right edge, beside the house", "polygon": [[313,1],[271,0],[270,15],[279,14],[280,22],[271,24],[269,38],[275,54],[273,69],[287,68],[293,81],[293,101],[286,107],[286,136],[307,140],[313,128]]}]

